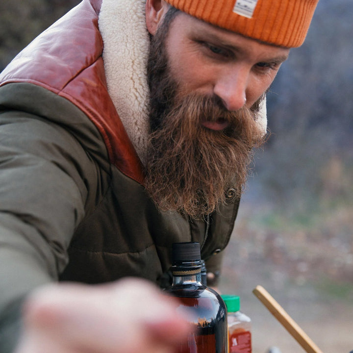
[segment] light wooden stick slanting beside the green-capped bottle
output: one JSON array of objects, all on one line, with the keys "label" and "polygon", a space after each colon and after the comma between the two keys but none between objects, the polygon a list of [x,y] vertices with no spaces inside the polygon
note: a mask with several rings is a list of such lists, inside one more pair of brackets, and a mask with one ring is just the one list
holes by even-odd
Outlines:
[{"label": "light wooden stick slanting beside the green-capped bottle", "polygon": [[306,335],[298,324],[284,311],[275,299],[258,285],[252,293],[263,303],[282,326],[297,340],[307,353],[322,353],[316,344]]}]

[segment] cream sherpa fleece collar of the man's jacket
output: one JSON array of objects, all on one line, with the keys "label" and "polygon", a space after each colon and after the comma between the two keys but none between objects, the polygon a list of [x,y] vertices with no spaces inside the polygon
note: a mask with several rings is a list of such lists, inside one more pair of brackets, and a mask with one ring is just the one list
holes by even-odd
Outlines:
[{"label": "cream sherpa fleece collar of the man's jacket", "polygon": [[[142,162],[149,133],[145,0],[103,0],[99,15],[108,92]],[[266,131],[266,104],[258,123]]]}]

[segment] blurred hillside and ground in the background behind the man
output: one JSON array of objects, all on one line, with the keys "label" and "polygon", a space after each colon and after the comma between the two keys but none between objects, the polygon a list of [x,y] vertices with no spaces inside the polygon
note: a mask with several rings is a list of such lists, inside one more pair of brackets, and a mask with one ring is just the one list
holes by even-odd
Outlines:
[{"label": "blurred hillside and ground in the background behind the man", "polygon": [[[78,0],[1,0],[0,70]],[[263,285],[324,353],[353,350],[353,1],[320,0],[268,94],[271,138],[225,252],[253,352],[303,352],[252,295]]]}]

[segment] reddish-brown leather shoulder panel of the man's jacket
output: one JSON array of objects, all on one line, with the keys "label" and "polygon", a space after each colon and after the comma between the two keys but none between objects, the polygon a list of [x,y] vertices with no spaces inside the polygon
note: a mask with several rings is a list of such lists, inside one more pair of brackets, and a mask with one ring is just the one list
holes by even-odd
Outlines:
[{"label": "reddish-brown leather shoulder panel of the man's jacket", "polygon": [[101,132],[111,163],[142,183],[142,163],[107,91],[100,7],[101,0],[79,3],[15,57],[0,85],[34,83],[72,101]]}]

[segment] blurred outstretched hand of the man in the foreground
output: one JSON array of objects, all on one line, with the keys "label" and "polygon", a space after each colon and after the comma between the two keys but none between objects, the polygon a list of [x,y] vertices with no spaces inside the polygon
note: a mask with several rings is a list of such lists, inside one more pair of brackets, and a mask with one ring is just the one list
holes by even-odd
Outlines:
[{"label": "blurred outstretched hand of the man in the foreground", "polygon": [[15,352],[173,352],[191,329],[177,305],[143,279],[45,286],[25,303]]}]

